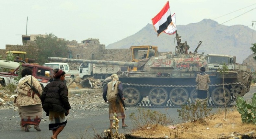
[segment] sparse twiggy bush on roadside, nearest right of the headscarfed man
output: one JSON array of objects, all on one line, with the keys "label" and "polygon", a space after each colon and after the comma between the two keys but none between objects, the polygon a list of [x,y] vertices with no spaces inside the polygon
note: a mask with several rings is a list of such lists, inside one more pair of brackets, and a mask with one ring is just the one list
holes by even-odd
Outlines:
[{"label": "sparse twiggy bush on roadside, nearest right of the headscarfed man", "polygon": [[157,111],[138,108],[137,113],[138,115],[135,115],[134,112],[129,115],[133,125],[137,128],[146,129],[150,127],[151,129],[155,129],[158,125],[170,123],[170,119],[166,117],[166,114]]}]

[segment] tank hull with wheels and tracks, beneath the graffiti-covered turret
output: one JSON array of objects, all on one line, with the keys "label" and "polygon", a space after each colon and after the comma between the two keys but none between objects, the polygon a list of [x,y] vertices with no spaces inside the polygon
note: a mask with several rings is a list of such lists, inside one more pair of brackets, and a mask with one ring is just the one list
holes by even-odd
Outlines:
[{"label": "tank hull with wheels and tracks, beneath the graffiti-covered turret", "polygon": [[[222,75],[216,71],[206,72],[211,80],[208,90],[208,99],[215,105],[234,102],[237,96],[243,96],[250,90],[251,76],[248,72],[229,71],[224,74],[224,89]],[[127,72],[119,76],[123,84],[123,95],[127,106],[136,106],[144,97],[154,106],[163,106],[167,103],[180,106],[187,101],[195,102],[197,99],[195,78],[198,72],[180,73],[143,73]],[[111,81],[107,78],[104,85]]]}]

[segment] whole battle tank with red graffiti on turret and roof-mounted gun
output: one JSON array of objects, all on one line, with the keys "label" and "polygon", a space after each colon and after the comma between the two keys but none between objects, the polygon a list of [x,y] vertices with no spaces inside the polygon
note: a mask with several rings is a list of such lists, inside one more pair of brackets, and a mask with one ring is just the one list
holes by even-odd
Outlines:
[{"label": "whole battle tank with red graffiti on turret and roof-mounted gun", "polygon": [[[230,70],[224,74],[224,94],[223,75],[219,71],[209,71],[204,53],[197,54],[197,49],[202,42],[199,42],[193,53],[188,53],[189,46],[187,43],[180,43],[180,37],[177,34],[176,38],[178,42],[176,55],[167,53],[164,56],[141,59],[138,62],[57,57],[49,57],[48,60],[119,65],[128,66],[131,69],[137,67],[137,71],[117,73],[119,81],[123,85],[126,106],[137,106],[144,97],[148,97],[149,105],[152,106],[180,106],[186,104],[189,99],[191,102],[195,102],[197,99],[195,78],[203,66],[211,80],[207,92],[208,100],[210,101],[210,98],[212,100],[209,103],[217,106],[222,106],[225,103],[230,104],[236,100],[237,96],[244,96],[250,91],[251,74],[242,70]],[[103,88],[110,81],[111,77],[106,78],[102,83]]]}]

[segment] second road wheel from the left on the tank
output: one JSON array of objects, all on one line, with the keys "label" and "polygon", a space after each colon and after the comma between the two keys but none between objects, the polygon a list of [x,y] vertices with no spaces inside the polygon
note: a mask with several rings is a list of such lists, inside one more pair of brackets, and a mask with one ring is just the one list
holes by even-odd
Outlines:
[{"label": "second road wheel from the left on the tank", "polygon": [[168,101],[168,94],[163,88],[153,88],[149,91],[148,98],[149,101],[155,106],[161,106]]}]

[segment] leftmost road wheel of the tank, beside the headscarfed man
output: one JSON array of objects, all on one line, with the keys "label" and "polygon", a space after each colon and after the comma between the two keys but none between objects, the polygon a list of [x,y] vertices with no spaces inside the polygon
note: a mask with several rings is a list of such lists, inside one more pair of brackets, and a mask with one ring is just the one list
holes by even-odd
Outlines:
[{"label": "leftmost road wheel of the tank, beside the headscarfed man", "polygon": [[134,87],[126,87],[123,89],[124,104],[134,106],[141,100],[140,92]]}]

